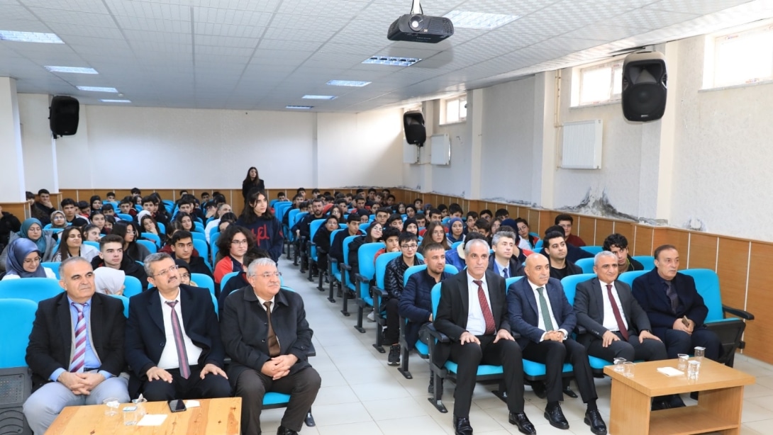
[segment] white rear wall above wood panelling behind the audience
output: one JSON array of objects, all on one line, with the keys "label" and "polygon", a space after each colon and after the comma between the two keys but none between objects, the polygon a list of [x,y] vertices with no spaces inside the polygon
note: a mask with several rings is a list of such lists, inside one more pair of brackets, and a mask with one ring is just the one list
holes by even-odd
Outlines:
[{"label": "white rear wall above wood panelling behind the audience", "polygon": [[[50,165],[44,99],[22,94],[22,124],[36,127],[25,130],[24,147]],[[399,185],[401,117],[397,109],[315,114],[82,105],[78,133],[56,140],[59,187],[236,189],[250,166],[269,189]],[[50,169],[32,159],[26,165]],[[27,184],[52,189],[51,177],[29,175]]]}]

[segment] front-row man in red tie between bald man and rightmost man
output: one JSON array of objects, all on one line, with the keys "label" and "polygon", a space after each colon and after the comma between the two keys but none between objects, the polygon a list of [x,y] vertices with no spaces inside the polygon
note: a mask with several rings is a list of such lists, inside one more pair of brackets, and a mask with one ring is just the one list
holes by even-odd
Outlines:
[{"label": "front-row man in red tie between bald man and rightmost man", "polygon": [[[596,254],[595,278],[577,284],[574,311],[577,325],[586,332],[577,337],[588,355],[612,361],[658,361],[667,359],[666,345],[652,335],[647,313],[631,294],[631,287],[618,281],[620,263],[615,253]],[[679,395],[656,397],[652,410],[684,406]]]}]

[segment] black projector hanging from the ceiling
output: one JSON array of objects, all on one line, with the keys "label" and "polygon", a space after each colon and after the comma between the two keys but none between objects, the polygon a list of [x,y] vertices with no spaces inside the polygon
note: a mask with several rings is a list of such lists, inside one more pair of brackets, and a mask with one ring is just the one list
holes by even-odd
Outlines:
[{"label": "black projector hanging from the ceiling", "polygon": [[414,0],[410,14],[396,19],[389,26],[390,41],[429,42],[436,44],[454,34],[454,23],[445,17],[424,15],[419,0]]}]

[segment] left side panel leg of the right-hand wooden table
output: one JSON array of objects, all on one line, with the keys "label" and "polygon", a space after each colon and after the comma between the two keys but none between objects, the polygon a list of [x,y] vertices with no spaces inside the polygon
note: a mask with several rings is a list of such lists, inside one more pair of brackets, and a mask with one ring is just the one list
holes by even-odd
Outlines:
[{"label": "left side panel leg of the right-hand wooden table", "polygon": [[645,435],[649,433],[651,398],[612,379],[611,435]]}]

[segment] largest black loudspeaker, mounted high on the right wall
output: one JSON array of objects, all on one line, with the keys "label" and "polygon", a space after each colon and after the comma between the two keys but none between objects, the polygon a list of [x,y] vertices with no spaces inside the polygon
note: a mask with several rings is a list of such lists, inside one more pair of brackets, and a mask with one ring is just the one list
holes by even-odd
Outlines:
[{"label": "largest black loudspeaker, mounted high on the right wall", "polygon": [[655,121],[666,111],[666,59],[658,52],[633,53],[623,61],[623,116]]}]

